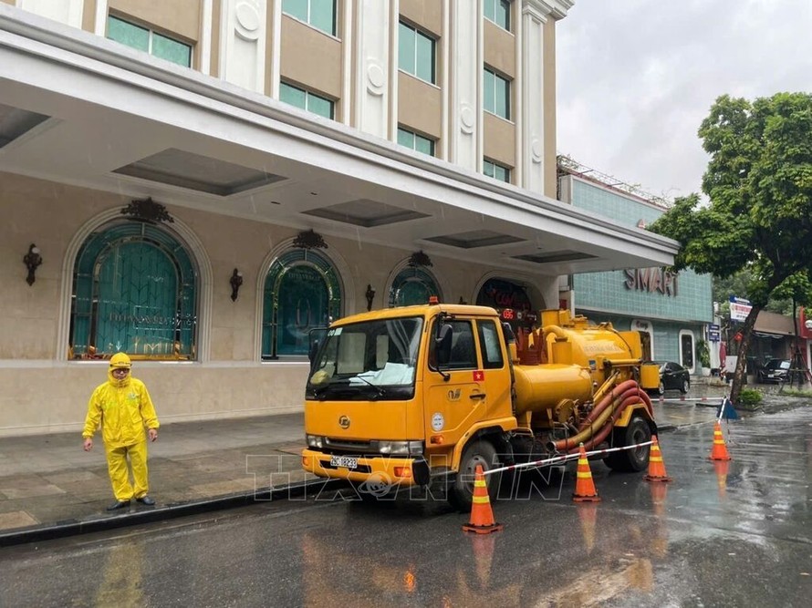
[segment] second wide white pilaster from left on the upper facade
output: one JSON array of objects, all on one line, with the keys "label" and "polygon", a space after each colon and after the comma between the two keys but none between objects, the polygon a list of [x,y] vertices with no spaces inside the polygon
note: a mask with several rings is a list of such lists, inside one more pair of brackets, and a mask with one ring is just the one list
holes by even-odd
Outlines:
[{"label": "second wide white pilaster from left on the upper facade", "polygon": [[390,96],[397,93],[397,63],[393,70],[390,53],[397,49],[397,21],[391,21],[397,5],[397,0],[358,0],[352,43],[356,49],[353,122],[365,133],[384,139],[390,139]]}]

